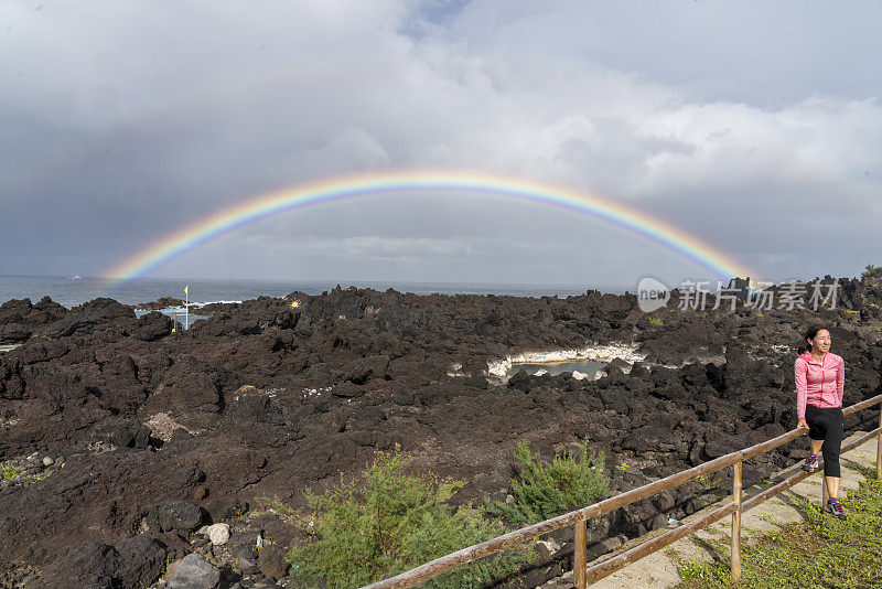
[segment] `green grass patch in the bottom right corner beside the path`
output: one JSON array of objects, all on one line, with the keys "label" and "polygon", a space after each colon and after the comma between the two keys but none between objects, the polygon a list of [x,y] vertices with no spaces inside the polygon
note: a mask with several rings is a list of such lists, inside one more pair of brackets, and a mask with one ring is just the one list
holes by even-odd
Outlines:
[{"label": "green grass patch in the bottom right corner beside the path", "polygon": [[[845,503],[848,520],[820,513],[818,505],[794,497],[806,521],[765,534],[753,546],[742,543],[741,583],[738,587],[882,587],[882,481],[862,482]],[[712,563],[680,563],[677,587],[735,587],[729,579],[725,555]]]}]

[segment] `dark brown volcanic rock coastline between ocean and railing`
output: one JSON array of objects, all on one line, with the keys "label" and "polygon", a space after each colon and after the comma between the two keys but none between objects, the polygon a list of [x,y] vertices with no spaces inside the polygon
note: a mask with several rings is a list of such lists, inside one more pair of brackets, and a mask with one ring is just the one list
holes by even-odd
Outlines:
[{"label": "dark brown volcanic rock coastline between ocean and railing", "polygon": [[[880,394],[882,286],[838,282],[836,309],[712,310],[711,296],[706,310],[652,314],[633,294],[598,291],[334,289],[218,303],[184,332],[110,299],[7,301],[0,588],[151,587],[162,575],[173,587],[168,565],[286,586],[300,532],[261,497],[301,508],[305,486],[321,492],[396,445],[412,469],[466,481],[455,504],[505,497],[520,441],[551,456],[588,438],[613,492],[639,486],[792,429],[795,347],[810,324],[829,326],[846,361],[845,404]],[[611,361],[599,379],[499,368],[599,350]],[[873,418],[850,416],[847,429]],[[745,484],[806,448],[800,438],[752,460]],[[727,476],[592,521],[591,556],[698,511],[729,492]],[[555,535],[503,583],[555,576],[571,542]]]}]

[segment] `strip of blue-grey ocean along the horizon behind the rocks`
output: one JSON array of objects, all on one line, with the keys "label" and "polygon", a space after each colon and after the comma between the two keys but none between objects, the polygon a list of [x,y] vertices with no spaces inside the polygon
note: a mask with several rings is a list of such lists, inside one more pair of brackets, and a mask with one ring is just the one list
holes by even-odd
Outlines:
[{"label": "strip of blue-grey ocean along the horizon behind the rocks", "polygon": [[36,302],[49,296],[55,302],[76,307],[98,297],[116,299],[123,304],[154,301],[161,297],[184,298],[184,285],[190,286],[192,303],[236,302],[256,299],[260,296],[283,297],[294,291],[306,294],[321,294],[337,285],[342,288],[355,286],[415,294],[496,294],[512,297],[564,298],[584,294],[594,289],[601,292],[622,294],[632,292],[635,287],[610,285],[493,285],[473,282],[366,282],[366,281],[322,281],[322,280],[251,280],[251,279],[200,279],[179,280],[165,278],[143,278],[106,286],[99,278],[83,277],[72,280],[63,276],[2,276],[0,275],[0,302],[10,299],[29,298]]}]

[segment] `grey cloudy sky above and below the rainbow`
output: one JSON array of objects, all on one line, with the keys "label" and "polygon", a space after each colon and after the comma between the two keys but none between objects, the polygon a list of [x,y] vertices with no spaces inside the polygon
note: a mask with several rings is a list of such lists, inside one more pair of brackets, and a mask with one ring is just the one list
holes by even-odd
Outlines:
[{"label": "grey cloudy sky above and below the rainbow", "polygon": [[[761,277],[882,264],[882,2],[0,0],[0,274],[98,276],[260,194],[461,170],[601,195]],[[417,191],[418,192],[418,191]],[[552,206],[378,194],[158,277],[719,278]]]}]

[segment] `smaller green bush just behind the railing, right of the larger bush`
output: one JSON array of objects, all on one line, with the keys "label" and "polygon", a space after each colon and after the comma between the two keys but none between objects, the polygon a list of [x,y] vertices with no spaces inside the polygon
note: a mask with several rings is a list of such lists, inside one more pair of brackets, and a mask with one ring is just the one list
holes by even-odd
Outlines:
[{"label": "smaller green bush just behind the railing, right of the larger bush", "polygon": [[515,453],[520,473],[512,480],[515,501],[485,502],[484,511],[501,516],[516,526],[535,524],[578,507],[591,505],[610,493],[610,480],[603,472],[603,452],[588,453],[588,439],[582,442],[579,459],[556,454],[542,463],[537,452],[534,459],[526,443]]}]

